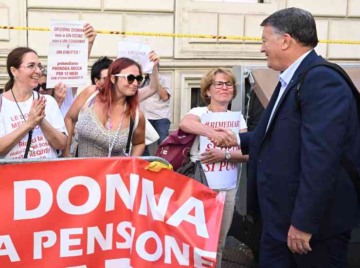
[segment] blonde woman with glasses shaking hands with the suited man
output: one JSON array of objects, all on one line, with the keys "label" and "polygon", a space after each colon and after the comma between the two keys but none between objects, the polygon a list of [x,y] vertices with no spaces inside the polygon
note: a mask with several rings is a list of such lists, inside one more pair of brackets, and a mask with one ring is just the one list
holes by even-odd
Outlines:
[{"label": "blonde woman with glasses shaking hands with the suited man", "polygon": [[[206,136],[208,138],[216,137],[221,133],[216,132],[212,127],[202,124],[200,118],[205,113],[212,112],[230,112],[228,111],[229,103],[236,96],[236,78],[233,73],[223,68],[214,68],[210,70],[206,76],[201,80],[200,94],[206,107],[196,107],[190,110],[180,121],[180,129],[189,134],[196,134],[195,141],[190,149],[191,162],[184,167],[183,172],[185,175],[193,177],[194,179],[206,184],[205,173],[201,167],[200,161],[203,164],[217,163],[220,161],[232,161],[232,162],[245,162],[248,161],[247,155],[242,155],[241,150],[227,151],[217,148],[206,149],[206,152],[200,154],[199,152],[199,135]],[[244,117],[241,115],[240,132],[246,132],[247,126]],[[180,168],[181,169],[181,168]],[[178,172],[181,173],[180,170]],[[221,180],[221,177],[219,177]],[[221,267],[222,250],[225,246],[225,238],[230,229],[231,222],[234,213],[235,194],[237,187],[234,186],[231,189],[214,189],[215,191],[225,191],[225,204],[224,212],[222,215],[219,242],[217,246],[216,254],[216,268]]]}]

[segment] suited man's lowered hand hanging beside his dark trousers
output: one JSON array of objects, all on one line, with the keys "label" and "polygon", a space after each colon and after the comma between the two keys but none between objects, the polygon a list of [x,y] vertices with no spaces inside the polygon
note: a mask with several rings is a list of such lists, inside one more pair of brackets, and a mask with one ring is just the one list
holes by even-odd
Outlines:
[{"label": "suited man's lowered hand hanging beside his dark trousers", "polygon": [[309,244],[311,236],[311,233],[303,232],[291,225],[288,231],[288,248],[292,253],[301,255],[312,251]]}]

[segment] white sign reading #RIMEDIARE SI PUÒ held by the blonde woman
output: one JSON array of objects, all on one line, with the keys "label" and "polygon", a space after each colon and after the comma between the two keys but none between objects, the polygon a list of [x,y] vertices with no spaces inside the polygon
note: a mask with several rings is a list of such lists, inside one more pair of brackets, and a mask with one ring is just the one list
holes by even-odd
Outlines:
[{"label": "white sign reading #RIMEDIARE SI PU\u00d2 held by the blonde woman", "polygon": [[[216,128],[225,127],[235,133],[240,130],[240,112],[227,113],[206,113],[201,116],[201,123]],[[200,153],[205,152],[205,148],[214,148],[214,143],[207,137],[200,136]],[[216,147],[220,150],[225,150]],[[237,151],[237,146],[228,148],[229,151]],[[233,189],[237,183],[238,163],[231,161],[221,161],[212,164],[201,164],[206,180],[211,189]]]}]

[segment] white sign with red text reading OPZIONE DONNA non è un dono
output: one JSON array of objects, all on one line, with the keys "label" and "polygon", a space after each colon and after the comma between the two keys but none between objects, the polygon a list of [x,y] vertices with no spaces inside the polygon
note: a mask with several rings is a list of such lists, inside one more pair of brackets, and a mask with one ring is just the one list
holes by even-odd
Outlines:
[{"label": "white sign with red text reading OPZIONE DONNA non \u00e8 un dono", "polygon": [[85,37],[85,21],[51,21],[46,87],[58,82],[68,86],[86,85],[89,39]]}]

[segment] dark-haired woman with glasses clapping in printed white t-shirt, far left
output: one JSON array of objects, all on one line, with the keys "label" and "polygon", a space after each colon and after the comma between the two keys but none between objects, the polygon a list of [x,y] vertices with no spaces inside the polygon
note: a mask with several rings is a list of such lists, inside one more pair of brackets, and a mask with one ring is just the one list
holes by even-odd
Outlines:
[{"label": "dark-haired woman with glasses clapping in printed white t-shirt, far left", "polygon": [[56,101],[33,91],[43,69],[30,48],[18,47],[7,57],[10,80],[0,95],[2,158],[24,158],[26,151],[28,158],[55,158],[56,149],[66,146],[65,123]]}]

